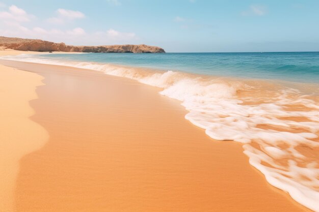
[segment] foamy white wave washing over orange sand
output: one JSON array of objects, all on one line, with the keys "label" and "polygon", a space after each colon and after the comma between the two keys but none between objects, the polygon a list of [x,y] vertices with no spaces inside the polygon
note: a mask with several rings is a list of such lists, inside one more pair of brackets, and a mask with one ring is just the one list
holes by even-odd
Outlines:
[{"label": "foamy white wave washing over orange sand", "polygon": [[71,66],[161,87],[181,101],[185,118],[215,140],[243,143],[249,163],[300,204],[319,211],[318,96],[263,80],[200,76],[175,71],[51,60],[22,55],[24,62]]}]

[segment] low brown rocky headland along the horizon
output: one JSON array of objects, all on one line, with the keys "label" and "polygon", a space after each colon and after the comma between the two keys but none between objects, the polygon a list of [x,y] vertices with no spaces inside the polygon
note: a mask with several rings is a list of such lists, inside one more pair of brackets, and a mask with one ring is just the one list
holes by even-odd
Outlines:
[{"label": "low brown rocky headland along the horizon", "polygon": [[65,43],[54,43],[38,39],[8,38],[0,36],[0,49],[8,48],[20,51],[66,51],[97,53],[165,53],[157,46],[109,45],[109,46],[71,46]]}]

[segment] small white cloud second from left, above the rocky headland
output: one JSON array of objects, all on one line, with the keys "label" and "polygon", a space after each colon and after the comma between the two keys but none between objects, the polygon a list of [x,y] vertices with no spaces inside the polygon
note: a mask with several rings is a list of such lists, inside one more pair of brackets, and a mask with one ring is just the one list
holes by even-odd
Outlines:
[{"label": "small white cloud second from left, above the rocky headland", "polygon": [[64,24],[75,19],[85,18],[84,13],[80,11],[66,10],[62,8],[57,10],[57,14],[57,17],[48,18],[47,21],[53,24]]}]

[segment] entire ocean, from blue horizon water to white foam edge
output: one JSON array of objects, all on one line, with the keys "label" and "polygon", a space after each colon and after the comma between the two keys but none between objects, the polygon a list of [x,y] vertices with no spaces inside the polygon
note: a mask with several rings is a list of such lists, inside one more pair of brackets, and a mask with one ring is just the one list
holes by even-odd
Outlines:
[{"label": "entire ocean, from blue horizon water to white foam edge", "polygon": [[271,185],[319,211],[319,52],[52,53],[0,59],[91,69],[161,87],[160,94],[181,102],[193,125],[212,139],[243,143],[249,163]]}]

